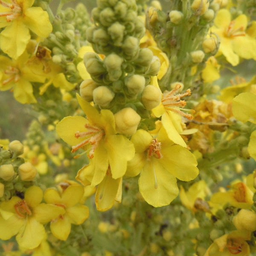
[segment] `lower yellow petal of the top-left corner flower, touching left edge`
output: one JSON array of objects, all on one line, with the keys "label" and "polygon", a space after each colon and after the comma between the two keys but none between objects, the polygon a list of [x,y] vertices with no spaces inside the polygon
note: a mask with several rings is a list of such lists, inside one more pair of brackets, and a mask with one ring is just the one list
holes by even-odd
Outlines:
[{"label": "lower yellow petal of the top-left corner flower, touching left edge", "polygon": [[17,59],[25,51],[29,39],[29,29],[20,20],[14,20],[1,32],[0,48],[11,58]]}]

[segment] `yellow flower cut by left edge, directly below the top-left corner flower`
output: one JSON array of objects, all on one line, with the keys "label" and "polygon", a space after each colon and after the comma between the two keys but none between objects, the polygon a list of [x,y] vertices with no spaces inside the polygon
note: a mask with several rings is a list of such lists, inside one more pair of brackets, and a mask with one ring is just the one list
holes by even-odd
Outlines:
[{"label": "yellow flower cut by left edge, directly below the top-left corner flower", "polygon": [[44,76],[37,75],[26,65],[28,54],[24,52],[17,60],[0,56],[0,90],[12,88],[15,99],[20,103],[37,102],[31,82],[43,83]]}]

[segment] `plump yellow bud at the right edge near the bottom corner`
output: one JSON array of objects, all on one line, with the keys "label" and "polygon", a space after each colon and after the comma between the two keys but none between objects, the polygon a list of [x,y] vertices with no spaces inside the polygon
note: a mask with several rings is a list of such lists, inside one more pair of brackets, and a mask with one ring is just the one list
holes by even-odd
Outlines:
[{"label": "plump yellow bud at the right edge near the bottom corner", "polygon": [[241,209],[232,221],[238,230],[256,230],[256,213],[250,210]]}]

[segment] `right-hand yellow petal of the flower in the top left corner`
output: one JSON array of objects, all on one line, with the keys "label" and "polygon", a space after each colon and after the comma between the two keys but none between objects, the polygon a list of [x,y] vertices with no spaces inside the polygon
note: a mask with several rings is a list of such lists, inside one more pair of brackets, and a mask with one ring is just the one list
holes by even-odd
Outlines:
[{"label": "right-hand yellow petal of the flower in the top left corner", "polygon": [[23,23],[29,27],[36,35],[47,38],[52,32],[52,24],[49,15],[41,7],[30,7],[23,11]]}]

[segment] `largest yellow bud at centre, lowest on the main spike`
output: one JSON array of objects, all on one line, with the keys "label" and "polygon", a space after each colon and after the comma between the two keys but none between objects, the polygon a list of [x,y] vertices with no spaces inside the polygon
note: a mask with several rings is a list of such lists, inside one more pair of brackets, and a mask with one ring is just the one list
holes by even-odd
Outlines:
[{"label": "largest yellow bud at centre, lowest on the main spike", "polygon": [[131,136],[137,131],[140,115],[132,108],[123,108],[115,115],[116,131]]}]

